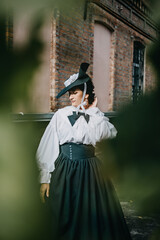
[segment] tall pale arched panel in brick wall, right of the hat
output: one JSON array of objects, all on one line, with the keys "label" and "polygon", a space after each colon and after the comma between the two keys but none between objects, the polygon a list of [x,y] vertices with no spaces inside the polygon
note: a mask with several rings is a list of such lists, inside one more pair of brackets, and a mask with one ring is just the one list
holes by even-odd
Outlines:
[{"label": "tall pale arched panel in brick wall, right of the hat", "polygon": [[94,26],[93,82],[98,107],[108,111],[110,82],[111,31],[100,23]]}]

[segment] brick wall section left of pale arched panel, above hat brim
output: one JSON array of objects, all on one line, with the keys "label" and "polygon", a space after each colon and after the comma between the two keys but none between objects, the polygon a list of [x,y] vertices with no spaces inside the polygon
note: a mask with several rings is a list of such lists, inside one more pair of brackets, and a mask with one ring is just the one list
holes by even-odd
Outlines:
[{"label": "brick wall section left of pale arched panel, above hat brim", "polygon": [[[83,14],[83,9],[80,9],[72,16],[56,16],[55,55],[51,59],[55,64],[54,74],[51,76],[55,92],[51,94],[51,110],[69,104],[67,94],[58,101],[55,96],[64,87],[64,81],[78,72],[81,62],[92,62],[93,30],[90,20],[83,20]],[[91,67],[88,73],[92,75]]]}]

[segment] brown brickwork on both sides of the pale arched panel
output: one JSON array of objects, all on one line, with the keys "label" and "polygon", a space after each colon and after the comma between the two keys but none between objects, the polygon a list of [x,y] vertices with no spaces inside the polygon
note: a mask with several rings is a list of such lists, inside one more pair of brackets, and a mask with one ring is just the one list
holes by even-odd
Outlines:
[{"label": "brown brickwork on both sides of the pale arched panel", "polygon": [[[116,11],[118,11],[117,7]],[[54,47],[51,53],[52,111],[69,104],[67,94],[58,100],[55,96],[64,87],[64,81],[78,71],[81,62],[86,61],[91,64],[88,74],[91,77],[93,75],[95,21],[101,22],[112,31],[109,111],[118,110],[124,103],[130,101],[134,41],[140,41],[148,46],[151,43],[151,36],[156,36],[156,29],[136,14],[132,14],[132,21],[130,19],[130,24],[126,24],[124,19],[131,17],[131,14],[126,7],[123,7],[122,11],[119,15],[123,17],[123,21],[120,17],[114,16],[107,9],[94,3],[88,5],[86,20],[83,18],[84,9],[78,9],[72,16],[56,14],[52,32],[52,38],[56,41],[52,41]],[[138,31],[136,27],[139,28]],[[144,33],[141,33],[142,30]],[[148,37],[147,34],[149,34]],[[145,89],[152,89],[155,86],[154,76],[147,61],[145,62],[144,84]]]}]

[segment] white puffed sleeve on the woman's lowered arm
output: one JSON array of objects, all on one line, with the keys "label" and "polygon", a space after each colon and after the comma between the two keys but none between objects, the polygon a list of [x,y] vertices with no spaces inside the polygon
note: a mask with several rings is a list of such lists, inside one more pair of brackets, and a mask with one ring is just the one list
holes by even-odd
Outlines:
[{"label": "white puffed sleeve on the woman's lowered arm", "polygon": [[40,183],[50,183],[54,162],[59,155],[59,139],[57,134],[57,112],[48,124],[39,143],[36,159],[40,170]]}]

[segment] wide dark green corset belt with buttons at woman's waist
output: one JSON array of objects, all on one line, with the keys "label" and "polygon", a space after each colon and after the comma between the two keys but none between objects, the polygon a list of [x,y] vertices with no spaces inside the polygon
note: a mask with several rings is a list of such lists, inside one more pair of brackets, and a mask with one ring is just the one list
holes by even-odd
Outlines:
[{"label": "wide dark green corset belt with buttons at woman's waist", "polygon": [[92,145],[65,143],[60,145],[60,152],[70,160],[80,160],[95,157],[95,148]]}]

